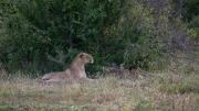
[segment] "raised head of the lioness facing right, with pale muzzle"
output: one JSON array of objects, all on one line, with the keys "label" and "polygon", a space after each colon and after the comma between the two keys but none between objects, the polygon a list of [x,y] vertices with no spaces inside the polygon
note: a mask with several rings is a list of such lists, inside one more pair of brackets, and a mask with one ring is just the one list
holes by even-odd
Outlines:
[{"label": "raised head of the lioness facing right, with pale muzzle", "polygon": [[90,55],[90,54],[81,53],[81,54],[78,54],[78,56],[84,62],[84,64],[86,64],[86,63],[92,63],[93,64],[93,62],[94,62],[93,56]]}]

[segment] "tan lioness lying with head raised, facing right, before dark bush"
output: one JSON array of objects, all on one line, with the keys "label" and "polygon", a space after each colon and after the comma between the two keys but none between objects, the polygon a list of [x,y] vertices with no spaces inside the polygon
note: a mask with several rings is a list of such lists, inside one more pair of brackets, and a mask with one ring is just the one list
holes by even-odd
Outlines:
[{"label": "tan lioness lying with head raised, facing right, before dark bush", "polygon": [[45,74],[40,78],[42,81],[71,81],[71,80],[92,80],[86,77],[84,65],[93,63],[93,56],[80,53],[64,71]]}]

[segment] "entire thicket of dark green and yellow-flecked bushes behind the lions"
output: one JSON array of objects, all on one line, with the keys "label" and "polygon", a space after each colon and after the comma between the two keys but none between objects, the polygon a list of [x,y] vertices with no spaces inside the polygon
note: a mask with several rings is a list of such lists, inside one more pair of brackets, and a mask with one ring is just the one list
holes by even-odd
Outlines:
[{"label": "entire thicket of dark green and yellow-flecked bushes behind the lions", "polygon": [[[0,60],[8,70],[63,70],[80,52],[94,56],[87,74],[111,63],[148,67],[163,53],[168,13],[125,0],[15,0],[3,7]],[[158,21],[157,21],[158,20]]]}]

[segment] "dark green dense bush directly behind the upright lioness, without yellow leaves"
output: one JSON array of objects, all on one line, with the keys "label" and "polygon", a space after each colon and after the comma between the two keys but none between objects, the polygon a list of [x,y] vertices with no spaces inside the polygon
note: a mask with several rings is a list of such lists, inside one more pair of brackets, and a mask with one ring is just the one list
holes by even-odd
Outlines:
[{"label": "dark green dense bush directly behind the upright lioness, without yellow leaves", "polygon": [[98,58],[105,42],[102,33],[123,12],[123,0],[17,0],[8,4],[14,13],[3,19],[7,33],[0,46],[1,62],[22,69],[31,63],[45,68],[39,69],[42,71],[53,66],[52,70],[59,70],[77,52],[94,55],[97,65],[103,60]]}]

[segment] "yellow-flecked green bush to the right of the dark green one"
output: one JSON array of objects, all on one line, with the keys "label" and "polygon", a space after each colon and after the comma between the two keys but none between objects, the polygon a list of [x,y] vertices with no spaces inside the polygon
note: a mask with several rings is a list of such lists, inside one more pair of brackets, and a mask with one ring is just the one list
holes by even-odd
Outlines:
[{"label": "yellow-flecked green bush to the right of the dark green one", "polygon": [[133,5],[121,20],[119,36],[125,40],[125,63],[132,67],[147,68],[149,62],[163,53],[161,40],[166,35],[167,27],[163,30],[159,21],[168,19],[167,15],[161,15],[157,22],[151,14],[154,10],[144,3],[130,2]]}]

